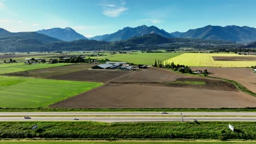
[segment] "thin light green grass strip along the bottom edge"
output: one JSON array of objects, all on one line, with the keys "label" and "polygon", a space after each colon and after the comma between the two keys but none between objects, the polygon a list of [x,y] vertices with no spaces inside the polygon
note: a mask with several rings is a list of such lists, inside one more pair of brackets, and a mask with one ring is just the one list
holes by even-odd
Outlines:
[{"label": "thin light green grass strip along the bottom edge", "polygon": [[24,143],[35,143],[35,144],[226,144],[226,143],[237,143],[237,144],[248,144],[248,143],[256,143],[256,142],[223,142],[223,141],[0,141],[0,144],[24,144]]}]

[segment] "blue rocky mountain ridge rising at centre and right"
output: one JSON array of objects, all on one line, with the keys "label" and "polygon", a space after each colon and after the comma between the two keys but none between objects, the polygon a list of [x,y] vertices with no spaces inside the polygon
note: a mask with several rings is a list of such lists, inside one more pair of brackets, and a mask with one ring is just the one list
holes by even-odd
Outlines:
[{"label": "blue rocky mountain ridge rising at centre and right", "polygon": [[191,39],[207,39],[207,40],[224,40],[235,43],[250,43],[256,41],[256,28],[247,26],[205,26],[202,28],[189,29],[187,32],[168,33],[164,29],[155,26],[147,27],[145,25],[135,28],[125,27],[112,34],[98,35],[92,37],[94,40],[119,41],[144,34],[159,34],[166,38],[191,38]]}]

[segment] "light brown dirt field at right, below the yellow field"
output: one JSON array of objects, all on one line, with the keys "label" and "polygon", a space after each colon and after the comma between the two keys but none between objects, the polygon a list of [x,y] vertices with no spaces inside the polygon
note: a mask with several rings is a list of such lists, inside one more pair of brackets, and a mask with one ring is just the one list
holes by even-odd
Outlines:
[{"label": "light brown dirt field at right, below the yellow field", "polygon": [[207,69],[210,76],[237,81],[252,92],[256,93],[256,74],[253,73],[251,68],[191,67],[191,69]]}]

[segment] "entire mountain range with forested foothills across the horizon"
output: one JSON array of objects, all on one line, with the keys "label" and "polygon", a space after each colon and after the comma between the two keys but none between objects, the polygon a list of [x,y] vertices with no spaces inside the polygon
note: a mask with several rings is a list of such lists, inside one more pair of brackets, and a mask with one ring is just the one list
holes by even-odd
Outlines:
[{"label": "entire mountain range with forested foothills across the horizon", "polygon": [[[0,52],[256,47],[255,43],[235,44],[235,42],[256,41],[255,28],[246,26],[220,27],[209,25],[203,28],[190,29],[184,33],[168,33],[155,26],[142,25],[135,28],[125,27],[115,33],[96,36],[92,39],[80,37],[81,35],[71,28],[44,29],[40,32],[47,33],[47,35],[39,32],[12,33],[0,28]],[[57,37],[58,34],[59,39],[53,38]],[[50,37],[48,35],[55,36]],[[69,37],[71,35],[72,37]]]}]

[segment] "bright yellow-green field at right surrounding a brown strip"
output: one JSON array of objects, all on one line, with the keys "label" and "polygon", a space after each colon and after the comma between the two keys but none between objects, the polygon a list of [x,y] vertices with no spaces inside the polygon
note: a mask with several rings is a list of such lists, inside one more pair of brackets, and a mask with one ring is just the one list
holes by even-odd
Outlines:
[{"label": "bright yellow-green field at right surrounding a brown strip", "polygon": [[166,62],[195,67],[251,67],[256,61],[214,61],[212,56],[241,56],[235,53],[183,53]]}]

